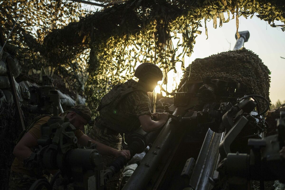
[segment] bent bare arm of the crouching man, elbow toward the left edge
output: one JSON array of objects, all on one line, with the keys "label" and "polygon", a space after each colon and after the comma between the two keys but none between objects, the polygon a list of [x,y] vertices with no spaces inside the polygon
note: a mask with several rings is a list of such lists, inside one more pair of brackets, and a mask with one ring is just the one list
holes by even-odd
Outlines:
[{"label": "bent bare arm of the crouching man, elbow toward the left edge", "polygon": [[38,143],[36,138],[27,132],[15,146],[13,155],[16,156],[19,160],[23,161],[30,157],[32,154],[32,150],[30,148],[37,145]]}]

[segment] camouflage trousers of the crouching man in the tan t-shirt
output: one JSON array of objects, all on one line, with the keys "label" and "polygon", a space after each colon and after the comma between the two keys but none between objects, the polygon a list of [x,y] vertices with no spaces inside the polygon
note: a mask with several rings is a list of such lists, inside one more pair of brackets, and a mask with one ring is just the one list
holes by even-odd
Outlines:
[{"label": "camouflage trousers of the crouching man in the tan t-shirt", "polygon": [[[49,181],[50,175],[40,178],[46,178]],[[10,170],[9,190],[29,190],[32,184],[40,178]],[[45,189],[46,188],[42,188],[42,190]]]}]

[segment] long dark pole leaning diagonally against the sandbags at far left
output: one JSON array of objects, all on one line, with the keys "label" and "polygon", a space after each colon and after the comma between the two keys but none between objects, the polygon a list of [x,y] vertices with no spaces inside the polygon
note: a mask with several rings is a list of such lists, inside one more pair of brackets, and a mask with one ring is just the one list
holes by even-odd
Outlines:
[{"label": "long dark pole leaning diagonally against the sandbags at far left", "polygon": [[[0,25],[0,36],[1,36],[1,39],[0,39],[1,46],[2,46],[3,50],[5,52],[7,52],[7,48],[6,48],[6,46],[4,46],[4,41],[5,40],[4,40],[4,35],[3,35],[3,32],[2,32],[2,25]],[[8,75],[8,78],[9,78],[10,87],[11,87],[13,100],[14,100],[14,104],[15,104],[15,109],[16,109],[16,116],[17,116],[16,117],[16,123],[19,122],[19,124],[21,125],[22,129],[25,130],[25,124],[24,124],[24,120],[23,120],[22,110],[21,110],[21,106],[20,106],[20,103],[19,103],[17,91],[16,91],[16,88],[15,88],[14,77],[13,77],[13,74],[11,73],[11,70],[12,70],[12,68],[11,68],[11,58],[9,58],[9,57],[6,58],[6,64],[7,64],[7,75]]]}]

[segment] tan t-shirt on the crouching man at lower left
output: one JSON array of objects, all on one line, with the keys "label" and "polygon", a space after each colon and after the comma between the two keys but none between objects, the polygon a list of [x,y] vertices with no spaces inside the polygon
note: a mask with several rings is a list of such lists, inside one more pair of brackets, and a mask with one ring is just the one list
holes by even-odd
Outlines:
[{"label": "tan t-shirt on the crouching man at lower left", "polygon": [[[30,134],[32,134],[32,136],[34,136],[34,138],[39,139],[42,135],[41,135],[41,131],[40,131],[40,126],[42,126],[42,124],[45,124],[46,122],[48,122],[48,120],[50,119],[50,116],[45,116],[42,117],[41,119],[39,119],[34,126],[28,131]],[[75,136],[79,139],[84,133],[81,130],[76,130],[74,131]],[[20,161],[18,158],[15,158],[13,161],[13,164],[11,166],[11,170],[15,171],[15,172],[19,172],[19,173],[25,173],[28,175],[33,175],[33,172],[30,170],[27,170],[24,167],[24,164],[22,161]]]}]

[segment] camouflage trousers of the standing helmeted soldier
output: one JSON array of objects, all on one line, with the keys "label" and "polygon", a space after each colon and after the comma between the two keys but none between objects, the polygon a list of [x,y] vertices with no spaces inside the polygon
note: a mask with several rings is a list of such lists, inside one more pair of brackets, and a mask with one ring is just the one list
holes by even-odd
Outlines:
[{"label": "camouflage trousers of the standing helmeted soldier", "polygon": [[[96,126],[90,131],[90,137],[116,150],[122,150],[122,136],[107,134],[106,130],[99,129]],[[115,160],[114,156],[102,156],[104,167]],[[116,173],[113,178],[105,185],[108,190],[120,190],[121,179],[123,177],[123,169]]]}]

